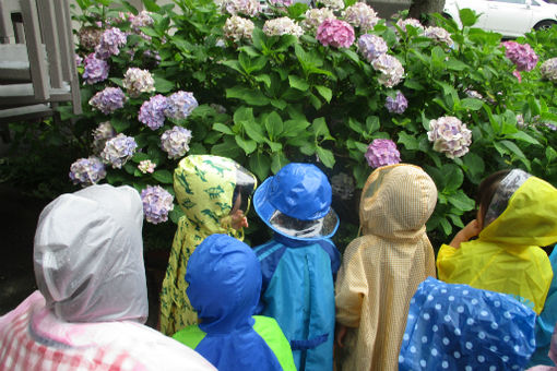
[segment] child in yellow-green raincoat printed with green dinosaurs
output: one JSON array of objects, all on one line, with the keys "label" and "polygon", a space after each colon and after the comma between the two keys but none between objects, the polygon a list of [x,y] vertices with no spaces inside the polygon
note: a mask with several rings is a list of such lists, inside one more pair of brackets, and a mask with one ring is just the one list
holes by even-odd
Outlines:
[{"label": "child in yellow-green raincoat printed with green dinosaurs", "polygon": [[244,239],[244,213],[256,188],[256,177],[229,158],[191,155],[174,172],[176,200],[183,211],[174,236],[161,291],[161,332],[173,335],[198,323],[183,280],[189,256],[205,237],[226,234]]}]

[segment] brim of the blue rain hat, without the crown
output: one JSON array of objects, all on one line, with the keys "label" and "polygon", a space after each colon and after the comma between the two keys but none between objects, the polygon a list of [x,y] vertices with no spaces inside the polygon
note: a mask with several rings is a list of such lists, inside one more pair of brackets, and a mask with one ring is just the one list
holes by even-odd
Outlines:
[{"label": "brim of the blue rain hat, without the crown", "polygon": [[[300,241],[319,241],[319,240],[322,240],[322,239],[325,239],[325,238],[331,238],[331,237],[334,236],[334,234],[339,229],[340,219],[339,219],[339,216],[336,215],[336,213],[334,212],[334,210],[332,207],[330,207],[328,216],[332,214],[332,216],[335,218],[335,223],[334,223],[334,228],[332,228],[332,230],[329,231],[327,235],[319,235],[317,237],[297,237],[297,236],[287,235],[287,234],[284,232],[284,230],[280,230],[271,222],[271,217],[276,212],[281,213],[270,202],[269,190],[271,188],[271,182],[273,181],[273,178],[274,177],[269,177],[268,179],[265,179],[265,181],[263,181],[263,183],[256,189],[256,193],[253,194],[253,208],[256,210],[256,213],[263,220],[263,223],[266,224],[266,226],[269,228],[271,228],[273,231],[275,231],[278,235],[282,235],[282,236],[285,236],[285,237],[288,237],[288,238],[292,238],[292,239],[295,239],[295,240],[300,240]],[[287,217],[289,217],[289,216],[287,216]],[[325,217],[327,216],[324,216],[324,217],[322,217],[320,219],[317,219],[317,220],[322,220]]]}]

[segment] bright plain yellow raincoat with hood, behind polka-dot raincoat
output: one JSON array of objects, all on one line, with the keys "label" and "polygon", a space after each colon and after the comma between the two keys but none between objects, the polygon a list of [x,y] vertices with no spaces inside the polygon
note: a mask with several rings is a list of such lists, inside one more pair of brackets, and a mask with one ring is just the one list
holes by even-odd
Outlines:
[{"label": "bright plain yellow raincoat with hood, behind polka-dot raincoat", "polygon": [[439,279],[510,294],[540,314],[553,271],[538,247],[556,241],[557,190],[531,177],[476,240],[461,243],[460,249],[441,247],[437,256]]}]

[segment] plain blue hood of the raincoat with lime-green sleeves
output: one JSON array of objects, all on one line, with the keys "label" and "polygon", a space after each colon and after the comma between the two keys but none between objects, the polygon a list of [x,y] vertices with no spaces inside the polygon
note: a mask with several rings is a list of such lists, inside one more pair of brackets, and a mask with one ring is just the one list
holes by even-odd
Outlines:
[{"label": "plain blue hood of the raincoat with lime-green sleeves", "polygon": [[226,235],[208,237],[191,254],[186,280],[188,298],[208,334],[251,327],[261,291],[256,253]]}]

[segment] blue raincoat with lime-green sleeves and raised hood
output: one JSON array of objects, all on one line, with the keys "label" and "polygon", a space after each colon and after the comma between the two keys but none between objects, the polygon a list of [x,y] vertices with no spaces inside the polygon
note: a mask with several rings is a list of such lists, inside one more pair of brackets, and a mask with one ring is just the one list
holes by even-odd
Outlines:
[{"label": "blue raincoat with lime-green sleeves and raised hood", "polygon": [[252,316],[261,290],[253,251],[226,235],[212,235],[192,253],[187,295],[201,320],[173,337],[220,371],[295,370],[288,342],[276,321]]}]

